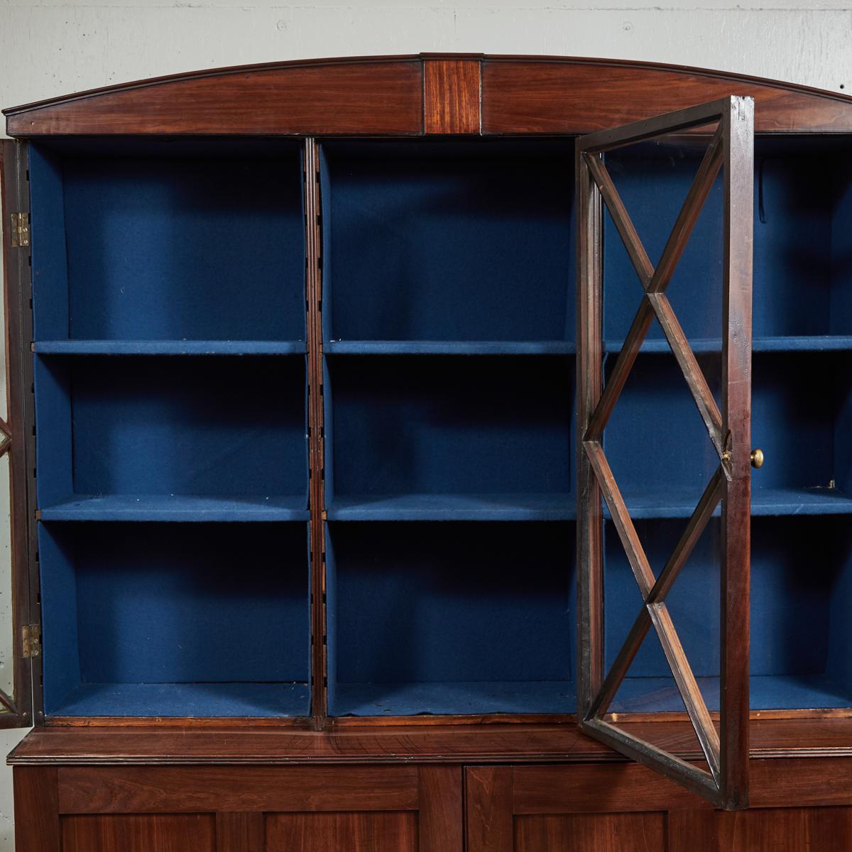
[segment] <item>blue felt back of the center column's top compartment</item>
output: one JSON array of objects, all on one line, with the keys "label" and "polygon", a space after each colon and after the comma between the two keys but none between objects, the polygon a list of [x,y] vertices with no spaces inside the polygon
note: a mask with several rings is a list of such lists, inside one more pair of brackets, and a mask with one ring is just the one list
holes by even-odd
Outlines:
[{"label": "blue felt back of the center column's top compartment", "polygon": [[326,340],[573,339],[569,142],[324,149]]}]

